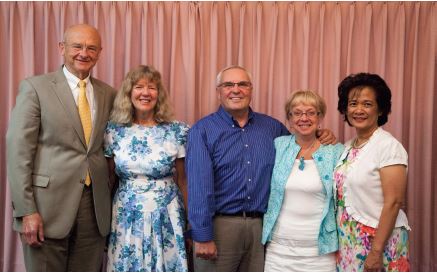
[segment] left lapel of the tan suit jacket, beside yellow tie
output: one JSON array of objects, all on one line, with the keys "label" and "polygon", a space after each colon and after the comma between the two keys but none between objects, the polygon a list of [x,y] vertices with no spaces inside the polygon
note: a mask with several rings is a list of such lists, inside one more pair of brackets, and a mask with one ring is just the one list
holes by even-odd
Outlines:
[{"label": "left lapel of the tan suit jacket, beside yellow tie", "polygon": [[80,122],[79,112],[77,111],[76,103],[74,102],[73,94],[68,86],[67,79],[60,69],[55,73],[55,77],[52,81],[53,92],[58,97],[62,106],[65,108],[67,114],[70,116],[71,124],[76,131],[80,141],[86,147],[85,135],[83,133],[82,123]]}]

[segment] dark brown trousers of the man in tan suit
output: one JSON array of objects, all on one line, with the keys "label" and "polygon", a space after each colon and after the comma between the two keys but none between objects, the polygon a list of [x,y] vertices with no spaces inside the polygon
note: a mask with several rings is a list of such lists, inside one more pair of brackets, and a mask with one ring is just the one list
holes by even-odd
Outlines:
[{"label": "dark brown trousers of the man in tan suit", "polygon": [[66,238],[45,238],[41,247],[31,247],[22,239],[26,270],[100,271],[105,239],[97,227],[92,186],[85,186],[75,224]]}]

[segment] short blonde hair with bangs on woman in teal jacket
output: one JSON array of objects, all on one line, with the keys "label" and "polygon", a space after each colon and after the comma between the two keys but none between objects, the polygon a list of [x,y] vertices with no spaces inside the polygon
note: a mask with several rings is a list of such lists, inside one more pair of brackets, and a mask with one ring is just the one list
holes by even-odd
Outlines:
[{"label": "short blonde hair with bangs on woman in teal jacket", "polygon": [[287,102],[285,103],[285,117],[287,119],[293,107],[300,103],[315,107],[317,112],[319,112],[320,117],[325,117],[326,103],[317,92],[312,90],[297,90],[291,93]]}]

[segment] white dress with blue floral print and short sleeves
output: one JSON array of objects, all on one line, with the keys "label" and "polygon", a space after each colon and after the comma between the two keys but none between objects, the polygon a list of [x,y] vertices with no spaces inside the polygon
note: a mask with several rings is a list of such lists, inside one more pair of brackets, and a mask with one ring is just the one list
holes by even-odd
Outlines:
[{"label": "white dress with blue floral print and short sleeves", "polygon": [[188,126],[108,123],[105,156],[114,157],[119,187],[112,202],[108,271],[188,271],[184,206],[174,181],[185,157]]}]

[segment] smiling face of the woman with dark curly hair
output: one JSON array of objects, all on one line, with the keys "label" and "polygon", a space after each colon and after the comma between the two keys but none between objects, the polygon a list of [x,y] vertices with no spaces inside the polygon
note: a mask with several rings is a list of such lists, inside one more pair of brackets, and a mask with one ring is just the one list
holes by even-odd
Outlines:
[{"label": "smiling face of the woman with dark curly hair", "polygon": [[365,87],[352,89],[348,95],[347,120],[359,134],[371,134],[378,127],[378,104],[375,91]]}]

